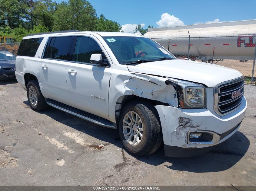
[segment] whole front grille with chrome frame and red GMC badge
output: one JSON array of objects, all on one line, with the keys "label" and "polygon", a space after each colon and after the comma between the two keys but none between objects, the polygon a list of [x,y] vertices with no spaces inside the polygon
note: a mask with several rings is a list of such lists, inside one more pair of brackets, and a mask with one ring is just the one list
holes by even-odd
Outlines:
[{"label": "whole front grille with chrome frame and red GMC badge", "polygon": [[219,115],[234,111],[242,102],[244,77],[226,81],[215,88],[214,110]]}]

